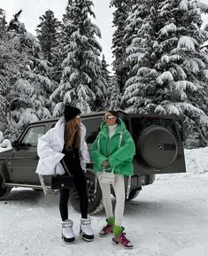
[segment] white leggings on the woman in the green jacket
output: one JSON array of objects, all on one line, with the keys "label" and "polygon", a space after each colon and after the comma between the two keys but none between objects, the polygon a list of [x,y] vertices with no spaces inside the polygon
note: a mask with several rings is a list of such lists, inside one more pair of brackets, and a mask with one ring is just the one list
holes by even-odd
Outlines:
[{"label": "white leggings on the woman in the green jacket", "polygon": [[[102,182],[99,182],[99,184],[103,194],[105,213],[107,215],[107,218],[111,218],[113,216],[113,213],[112,213],[112,198],[111,198],[110,184],[102,183]],[[115,226],[121,227],[123,214],[124,214],[124,204],[125,204],[124,176],[116,175],[115,182],[113,183],[112,186],[116,196],[116,206],[114,211]]]}]

